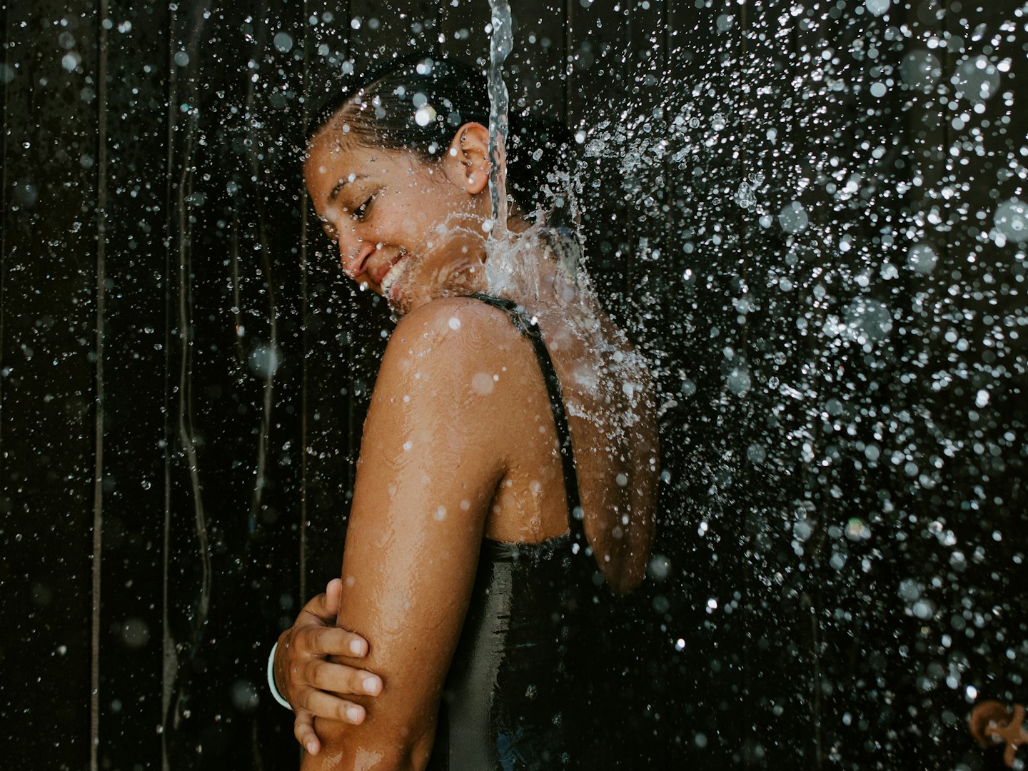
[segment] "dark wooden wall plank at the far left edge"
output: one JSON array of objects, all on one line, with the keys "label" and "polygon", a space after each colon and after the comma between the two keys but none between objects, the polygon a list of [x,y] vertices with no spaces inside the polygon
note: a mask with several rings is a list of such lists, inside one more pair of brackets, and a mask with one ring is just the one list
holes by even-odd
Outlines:
[{"label": "dark wooden wall plank at the far left edge", "polygon": [[[90,758],[90,585],[97,314],[96,14],[12,2],[2,14],[0,718],[61,737],[47,763]],[[28,768],[40,745],[8,741]]]}]

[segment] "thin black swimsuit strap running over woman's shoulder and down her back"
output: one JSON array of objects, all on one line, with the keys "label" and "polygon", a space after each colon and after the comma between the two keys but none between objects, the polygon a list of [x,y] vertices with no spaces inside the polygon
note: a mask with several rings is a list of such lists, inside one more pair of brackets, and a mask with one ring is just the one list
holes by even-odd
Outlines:
[{"label": "thin black swimsuit strap running over woman's shoulder and down her back", "polygon": [[588,548],[589,542],[585,537],[585,529],[582,524],[582,502],[579,499],[578,474],[575,473],[575,450],[572,447],[572,432],[567,425],[567,411],[564,409],[563,393],[560,390],[560,380],[557,379],[557,372],[553,368],[553,360],[550,352],[543,340],[542,330],[539,322],[535,318],[528,319],[524,310],[513,300],[506,297],[494,297],[482,292],[475,292],[466,295],[476,300],[481,300],[487,305],[500,308],[505,311],[511,322],[522,335],[531,341],[536,351],[536,358],[539,360],[539,367],[543,370],[543,379],[546,380],[546,391],[550,395],[550,409],[553,410],[553,425],[557,430],[557,441],[560,443],[560,465],[564,472],[564,495],[567,499],[567,526],[571,529],[572,538]]}]

